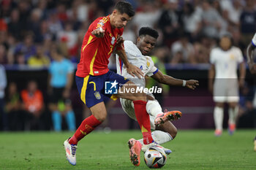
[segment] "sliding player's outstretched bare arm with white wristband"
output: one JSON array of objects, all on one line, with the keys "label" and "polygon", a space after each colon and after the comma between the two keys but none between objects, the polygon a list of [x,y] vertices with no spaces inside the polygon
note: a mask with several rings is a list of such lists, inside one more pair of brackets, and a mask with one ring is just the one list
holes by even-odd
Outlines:
[{"label": "sliding player's outstretched bare arm with white wristband", "polygon": [[154,80],[157,80],[157,82],[160,82],[165,85],[184,86],[192,90],[194,90],[197,87],[197,85],[199,85],[199,82],[197,80],[180,80],[170,77],[166,74],[162,74],[161,71],[158,71],[156,74],[154,74],[152,78]]}]

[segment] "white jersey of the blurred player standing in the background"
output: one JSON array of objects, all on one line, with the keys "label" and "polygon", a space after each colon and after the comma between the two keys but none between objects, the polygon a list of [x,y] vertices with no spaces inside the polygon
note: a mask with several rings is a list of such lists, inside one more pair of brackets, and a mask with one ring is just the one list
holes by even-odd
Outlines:
[{"label": "white jersey of the blurred player standing in the background", "polygon": [[242,52],[238,47],[231,47],[227,51],[220,47],[211,50],[210,62],[215,66],[215,78],[238,78],[238,63],[243,61]]}]

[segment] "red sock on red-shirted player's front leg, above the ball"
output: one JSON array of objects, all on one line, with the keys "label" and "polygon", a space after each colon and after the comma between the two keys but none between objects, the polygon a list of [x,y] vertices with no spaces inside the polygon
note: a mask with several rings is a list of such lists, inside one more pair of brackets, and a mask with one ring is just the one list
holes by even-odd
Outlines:
[{"label": "red sock on red-shirted player's front leg, above the ball", "polygon": [[133,104],[135,106],[135,115],[143,135],[143,143],[150,144],[153,142],[153,138],[151,136],[151,126],[150,126],[149,115],[146,112],[147,102],[133,101]]}]

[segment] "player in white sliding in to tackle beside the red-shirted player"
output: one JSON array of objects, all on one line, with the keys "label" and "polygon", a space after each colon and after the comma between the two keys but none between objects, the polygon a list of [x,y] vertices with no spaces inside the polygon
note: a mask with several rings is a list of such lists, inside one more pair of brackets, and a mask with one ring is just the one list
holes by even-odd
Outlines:
[{"label": "player in white sliding in to tackle beside the red-shirted player", "polygon": [[[129,80],[143,88],[145,88],[145,76],[148,76],[154,78],[154,80],[157,80],[157,82],[166,85],[180,85],[194,90],[196,86],[199,85],[197,80],[178,80],[162,74],[162,72],[154,66],[154,62],[152,61],[151,57],[148,56],[148,54],[151,53],[151,50],[153,50],[154,46],[156,45],[158,36],[158,32],[153,28],[143,27],[140,28],[136,45],[131,41],[124,41],[124,50],[127,53],[127,59],[130,63],[138,66],[138,68],[142,70],[144,74],[143,79],[135,79],[128,74],[127,69],[124,67],[124,64],[121,62],[120,58],[118,58],[118,55],[116,56],[117,73],[129,78]],[[148,93],[148,98],[151,98],[151,100],[148,101],[146,109],[150,115],[151,129],[155,130],[152,132],[154,142],[163,144],[173,140],[177,134],[177,129],[173,123],[170,122],[170,120],[178,119],[178,117],[181,116],[181,112],[171,111],[163,113],[162,107],[158,101],[154,99],[153,94]],[[124,112],[126,112],[129,117],[136,120],[132,101],[125,98],[120,98],[120,101]],[[167,113],[170,115],[166,116]],[[140,142],[140,144],[143,144],[143,139],[138,141],[135,139],[129,139],[128,144],[134,142]],[[141,149],[143,152],[145,152],[148,147],[150,147],[149,144],[147,144],[147,146],[146,144],[143,144]],[[165,148],[163,149],[167,154],[171,152]]]}]

